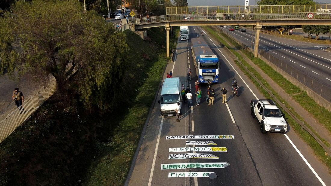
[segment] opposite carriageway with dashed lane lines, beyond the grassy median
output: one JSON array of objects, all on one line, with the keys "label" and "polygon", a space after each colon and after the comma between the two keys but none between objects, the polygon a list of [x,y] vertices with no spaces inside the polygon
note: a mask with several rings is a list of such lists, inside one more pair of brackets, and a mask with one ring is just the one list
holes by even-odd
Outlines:
[{"label": "opposite carriageway with dashed lane lines, beyond the grassy median", "polygon": [[[229,26],[228,28],[221,28],[246,46],[252,46],[251,29],[241,32],[240,29],[229,31]],[[255,35],[253,43],[254,39]],[[266,50],[267,53],[301,70],[331,89],[331,51],[325,50],[327,46],[260,32],[259,49]]]}]

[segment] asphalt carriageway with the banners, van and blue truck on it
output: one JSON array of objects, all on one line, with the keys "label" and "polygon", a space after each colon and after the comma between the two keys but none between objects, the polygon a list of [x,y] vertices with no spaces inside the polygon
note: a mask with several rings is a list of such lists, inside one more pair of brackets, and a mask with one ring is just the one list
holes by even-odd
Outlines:
[{"label": "asphalt carriageway with the banners, van and blue truck on it", "polygon": [[[189,29],[190,38],[200,36],[200,27],[190,26]],[[160,99],[159,92],[128,185],[326,185],[331,183],[327,167],[314,157],[312,150],[291,128],[286,135],[260,133],[258,121],[250,114],[250,101],[263,96],[223,49],[216,47],[219,46],[216,41],[208,35],[200,37],[203,37],[221,59],[220,81],[212,87],[216,91],[214,105],[204,102],[206,86],[202,85],[202,103],[191,109],[183,105],[180,122],[176,122],[175,117],[160,116],[160,105],[157,103]],[[196,78],[192,78],[191,81],[187,81],[186,78],[187,67],[191,67],[192,73],[195,74],[189,46],[190,40],[178,41],[175,62],[168,64],[166,73],[172,70],[173,77],[179,77],[182,84],[194,89]],[[228,102],[222,103],[220,89],[226,87],[231,90],[233,78],[239,82],[239,96],[231,95],[230,91],[227,96]],[[180,135],[233,135],[234,138],[192,139],[192,136],[189,136],[189,139],[166,139],[167,136]],[[195,145],[195,147],[226,147],[227,152],[196,152],[210,153],[218,159],[169,159],[169,154],[174,154],[169,153],[169,148],[194,147],[194,145],[185,145],[186,140],[212,140],[216,145]],[[204,163],[214,165],[214,168],[192,168],[192,166],[201,167]],[[184,169],[166,169],[170,167],[169,164],[176,164],[173,165],[174,167],[177,167],[177,164],[180,164],[180,167],[187,164],[189,166]],[[221,166],[216,168],[217,164]],[[176,177],[183,175],[178,172],[189,171],[215,172],[217,178]],[[203,173],[201,174],[203,176]]]}]

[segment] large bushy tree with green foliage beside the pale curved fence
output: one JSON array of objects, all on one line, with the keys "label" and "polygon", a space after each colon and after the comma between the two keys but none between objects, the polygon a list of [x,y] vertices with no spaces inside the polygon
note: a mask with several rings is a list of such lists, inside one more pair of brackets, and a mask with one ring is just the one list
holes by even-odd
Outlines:
[{"label": "large bushy tree with green foliage beside the pale curved fence", "polygon": [[116,91],[127,63],[124,41],[96,12],[84,13],[78,1],[19,1],[0,18],[0,74],[52,74],[58,90],[78,85],[87,107],[107,109],[111,101],[104,97]]}]

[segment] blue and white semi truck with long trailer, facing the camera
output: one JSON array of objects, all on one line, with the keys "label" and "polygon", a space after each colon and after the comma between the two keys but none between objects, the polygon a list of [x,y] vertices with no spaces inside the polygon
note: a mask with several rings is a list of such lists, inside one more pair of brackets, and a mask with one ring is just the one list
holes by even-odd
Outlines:
[{"label": "blue and white semi truck with long trailer, facing the camera", "polygon": [[208,44],[198,38],[191,38],[191,49],[197,77],[200,83],[218,82],[220,63]]}]

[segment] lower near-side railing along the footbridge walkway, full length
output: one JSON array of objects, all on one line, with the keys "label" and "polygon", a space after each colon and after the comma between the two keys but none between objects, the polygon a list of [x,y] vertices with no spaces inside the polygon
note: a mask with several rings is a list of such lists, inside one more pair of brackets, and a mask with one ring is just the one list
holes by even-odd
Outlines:
[{"label": "lower near-side railing along the footbridge walkway, full length", "polygon": [[[167,7],[169,8],[169,7]],[[178,14],[153,16],[134,19],[134,24],[150,24],[166,21],[193,21],[193,20],[303,20],[309,19],[309,13],[214,13],[214,14]],[[326,13],[314,12],[310,19],[331,19],[331,11]]]}]

